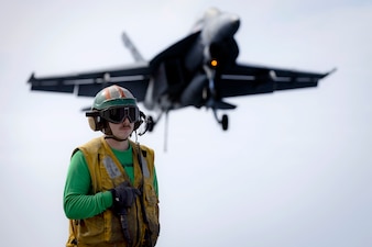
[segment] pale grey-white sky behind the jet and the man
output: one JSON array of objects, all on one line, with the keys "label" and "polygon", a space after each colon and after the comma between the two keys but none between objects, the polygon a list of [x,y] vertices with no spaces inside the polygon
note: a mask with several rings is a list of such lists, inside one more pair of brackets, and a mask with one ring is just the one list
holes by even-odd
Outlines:
[{"label": "pale grey-white sky behind the jet and the man", "polygon": [[164,121],[140,137],[156,150],[158,246],[372,245],[370,1],[2,0],[4,246],[65,245],[69,156],[99,135],[79,112],[92,99],[31,92],[31,72],[128,65],[123,31],[151,59],[208,7],[241,16],[240,61],[338,70],[318,88],[227,100],[238,109],[226,133],[210,111],[175,111],[167,153]]}]

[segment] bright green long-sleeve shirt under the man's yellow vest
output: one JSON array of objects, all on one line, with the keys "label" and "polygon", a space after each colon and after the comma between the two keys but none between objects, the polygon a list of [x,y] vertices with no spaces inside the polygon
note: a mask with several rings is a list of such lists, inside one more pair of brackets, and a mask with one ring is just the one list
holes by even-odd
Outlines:
[{"label": "bright green long-sleeve shirt under the man's yellow vest", "polygon": [[[131,182],[134,180],[132,147],[128,150],[112,149]],[[156,172],[154,188],[158,194]],[[112,205],[110,191],[92,194],[89,168],[84,154],[78,150],[70,159],[64,190],[64,211],[68,218],[83,220],[102,213]]]}]

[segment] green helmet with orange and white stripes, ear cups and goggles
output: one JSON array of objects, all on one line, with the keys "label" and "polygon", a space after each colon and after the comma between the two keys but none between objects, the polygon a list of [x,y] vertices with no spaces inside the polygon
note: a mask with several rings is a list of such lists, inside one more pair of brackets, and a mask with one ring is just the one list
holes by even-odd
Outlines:
[{"label": "green helmet with orange and white stripes, ear cups and goggles", "polygon": [[125,88],[117,85],[100,90],[94,100],[91,111],[86,113],[92,131],[112,135],[108,122],[122,123],[128,119],[134,123],[134,131],[142,124],[144,115],[136,105],[136,99]]}]

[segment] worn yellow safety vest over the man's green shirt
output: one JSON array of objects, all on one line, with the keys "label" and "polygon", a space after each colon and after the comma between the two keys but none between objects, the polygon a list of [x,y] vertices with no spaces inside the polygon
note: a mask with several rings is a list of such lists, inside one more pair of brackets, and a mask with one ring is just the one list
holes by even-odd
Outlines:
[{"label": "worn yellow safety vest over the man's green shirt", "polygon": [[[154,189],[154,151],[141,145],[141,156],[138,153],[138,144],[130,141],[133,150],[134,188],[141,188],[143,182],[143,193],[136,198],[135,203],[128,210],[127,222],[132,246],[139,247],[145,240],[145,233],[151,233],[151,239],[155,245],[158,232],[158,199]],[[92,183],[92,193],[108,191],[123,181],[130,179],[125,170],[113,155],[111,148],[106,143],[103,136],[95,138],[87,144],[78,147],[86,158]],[[74,151],[74,153],[75,153]],[[142,158],[142,169],[139,157]],[[143,170],[143,171],[142,171]],[[143,200],[147,224],[144,222],[141,201]],[[69,221],[69,239],[67,247],[128,247],[121,228],[120,218],[111,209],[101,214],[85,220]]]}]

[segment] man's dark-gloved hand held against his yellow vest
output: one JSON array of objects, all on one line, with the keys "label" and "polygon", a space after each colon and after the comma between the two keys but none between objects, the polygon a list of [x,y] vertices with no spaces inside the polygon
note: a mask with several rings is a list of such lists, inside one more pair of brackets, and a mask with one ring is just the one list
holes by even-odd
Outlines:
[{"label": "man's dark-gloved hand held against his yellow vest", "polygon": [[130,187],[128,181],[120,183],[118,187],[111,190],[112,193],[112,205],[116,211],[120,211],[123,207],[130,207],[135,198],[141,195],[139,189]]}]

